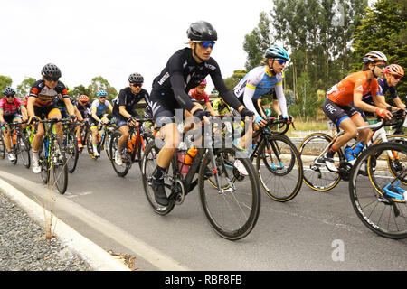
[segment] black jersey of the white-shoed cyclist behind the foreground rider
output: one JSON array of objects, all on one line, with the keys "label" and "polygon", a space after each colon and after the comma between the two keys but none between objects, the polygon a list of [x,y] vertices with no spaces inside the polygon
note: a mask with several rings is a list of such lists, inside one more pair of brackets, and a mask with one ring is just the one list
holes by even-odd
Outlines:
[{"label": "black jersey of the white-shoed cyclist behind the foreground rider", "polygon": [[118,93],[118,97],[113,99],[113,116],[123,117],[118,111],[118,107],[126,107],[126,111],[132,116],[138,116],[137,111],[134,109],[134,106],[141,100],[145,99],[147,102],[148,92],[146,89],[141,89],[140,92],[136,95],[131,92],[129,87],[121,89]]}]

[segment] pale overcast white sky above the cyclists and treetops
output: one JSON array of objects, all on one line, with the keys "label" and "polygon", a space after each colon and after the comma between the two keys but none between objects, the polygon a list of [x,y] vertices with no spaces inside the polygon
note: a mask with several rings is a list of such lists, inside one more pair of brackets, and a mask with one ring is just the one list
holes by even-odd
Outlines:
[{"label": "pale overcast white sky above the cyclists and treetops", "polygon": [[101,76],[120,90],[139,72],[150,92],[168,58],[186,47],[189,25],[204,20],[218,33],[211,56],[227,78],[244,69],[244,35],[271,7],[271,0],[1,0],[0,75],[15,89],[24,78],[41,79],[51,62],[70,88]]}]

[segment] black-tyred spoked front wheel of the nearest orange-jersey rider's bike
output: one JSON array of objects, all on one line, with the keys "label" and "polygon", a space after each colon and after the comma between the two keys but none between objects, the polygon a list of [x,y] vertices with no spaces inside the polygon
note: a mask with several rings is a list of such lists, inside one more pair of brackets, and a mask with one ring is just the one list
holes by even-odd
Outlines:
[{"label": "black-tyred spoked front wheel of the nearest orange-jersey rider's bike", "polygon": [[[407,204],[405,200],[389,200],[383,195],[384,185],[393,181],[393,175],[386,169],[385,161],[382,164],[375,163],[385,151],[397,151],[402,155],[403,172],[407,169],[407,147],[402,144],[386,142],[374,144],[363,151],[357,158],[350,174],[349,193],[352,206],[362,223],[374,233],[384,238],[407,238]],[[386,154],[386,153],[385,153]],[[382,157],[382,159],[385,157]],[[362,163],[368,163],[368,177],[359,173]],[[372,175],[383,174],[382,184],[374,183]],[[380,188],[377,188],[377,186]],[[372,188],[374,186],[374,189]],[[407,190],[405,185],[403,190]],[[398,211],[398,215],[397,212]]]}]

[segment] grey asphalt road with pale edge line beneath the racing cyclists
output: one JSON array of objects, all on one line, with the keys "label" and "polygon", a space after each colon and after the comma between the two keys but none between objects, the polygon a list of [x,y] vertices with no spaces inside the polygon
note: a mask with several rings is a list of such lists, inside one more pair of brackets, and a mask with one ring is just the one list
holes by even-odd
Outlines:
[{"label": "grey asphalt road with pale edge line beneath the racing cyclists", "polygon": [[303,184],[287,203],[263,193],[256,227],[232,242],[209,226],[197,189],[169,215],[159,216],[147,203],[138,165],[120,178],[105,154],[97,162],[81,154],[64,195],[51,194],[41,176],[20,162],[1,160],[0,171],[5,181],[100,247],[136,256],[139,270],[407,268],[407,239],[382,238],[365,228],[350,203],[347,182],[329,192]]}]

